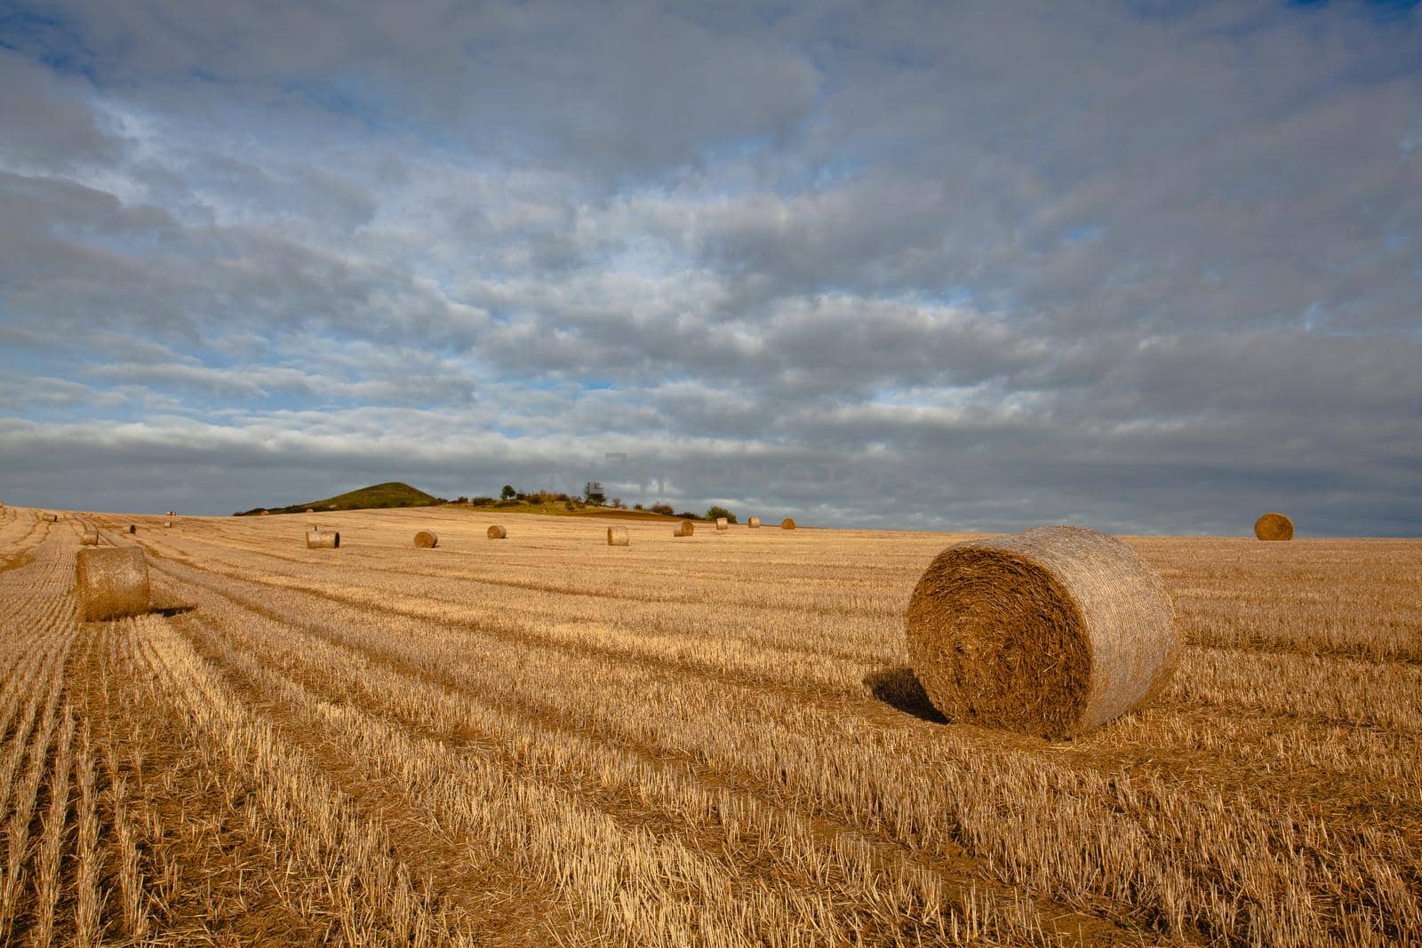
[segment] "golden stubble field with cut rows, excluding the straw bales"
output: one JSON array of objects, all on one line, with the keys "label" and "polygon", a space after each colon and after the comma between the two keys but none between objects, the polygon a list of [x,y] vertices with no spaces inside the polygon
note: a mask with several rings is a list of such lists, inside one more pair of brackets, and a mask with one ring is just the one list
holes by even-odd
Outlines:
[{"label": "golden stubble field with cut rows, excluding the straw bales", "polygon": [[4,944],[1422,938],[1422,542],[1128,540],[1179,668],[1048,742],[904,669],[963,534],[73,516],[155,611],[77,623],[80,534],[0,510]]}]

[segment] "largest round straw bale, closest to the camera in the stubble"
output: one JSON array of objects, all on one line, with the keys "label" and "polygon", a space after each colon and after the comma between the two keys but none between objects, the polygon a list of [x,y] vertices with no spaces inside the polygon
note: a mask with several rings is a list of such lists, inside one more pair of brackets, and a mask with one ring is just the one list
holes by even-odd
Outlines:
[{"label": "largest round straw bale, closest to the camera in the stubble", "polygon": [[950,546],[913,590],[909,657],[954,721],[1064,738],[1146,704],[1179,652],[1160,578],[1121,540],[1034,527]]}]

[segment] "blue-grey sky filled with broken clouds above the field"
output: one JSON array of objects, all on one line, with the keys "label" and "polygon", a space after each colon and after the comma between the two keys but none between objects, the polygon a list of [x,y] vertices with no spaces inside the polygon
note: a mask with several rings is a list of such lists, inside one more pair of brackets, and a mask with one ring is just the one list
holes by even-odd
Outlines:
[{"label": "blue-grey sky filled with broken clouds above the field", "polygon": [[0,0],[0,500],[1422,534],[1412,7]]}]

